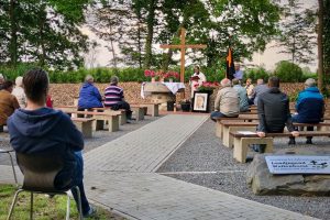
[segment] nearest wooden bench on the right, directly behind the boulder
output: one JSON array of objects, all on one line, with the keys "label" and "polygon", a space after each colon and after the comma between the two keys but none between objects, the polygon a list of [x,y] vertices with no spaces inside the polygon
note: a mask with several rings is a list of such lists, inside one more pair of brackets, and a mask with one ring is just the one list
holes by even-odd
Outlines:
[{"label": "nearest wooden bench on the right, directly behind the boulder", "polygon": [[[274,138],[293,136],[289,132],[266,133],[265,138],[258,138],[257,134],[242,134],[240,132],[231,132],[230,135],[234,138],[233,158],[240,163],[245,163],[246,161],[249,144],[266,144],[265,153],[272,153]],[[299,136],[330,136],[330,133],[319,131],[306,131],[299,132]]]}]

